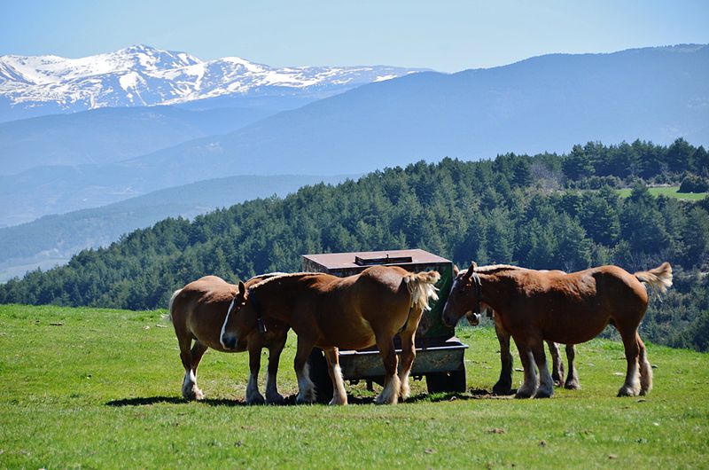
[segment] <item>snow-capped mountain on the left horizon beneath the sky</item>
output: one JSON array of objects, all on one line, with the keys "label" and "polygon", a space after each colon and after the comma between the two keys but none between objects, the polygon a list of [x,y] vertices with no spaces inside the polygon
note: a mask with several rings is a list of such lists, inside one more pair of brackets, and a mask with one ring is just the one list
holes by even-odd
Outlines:
[{"label": "snow-capped mountain on the left horizon beneath the sky", "polygon": [[[0,56],[0,108],[12,117],[106,106],[174,105],[217,97],[323,98],[420,71],[401,67],[269,67],[136,45],[81,59]],[[0,114],[8,114],[4,110]]]}]

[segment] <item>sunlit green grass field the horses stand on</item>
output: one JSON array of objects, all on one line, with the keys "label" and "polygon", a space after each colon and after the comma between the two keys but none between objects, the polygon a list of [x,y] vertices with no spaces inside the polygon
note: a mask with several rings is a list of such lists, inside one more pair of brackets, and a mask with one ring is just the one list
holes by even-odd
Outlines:
[{"label": "sunlit green grass field the horses stand on", "polygon": [[[578,347],[583,389],[549,400],[425,396],[418,381],[408,403],[334,408],[244,406],[246,355],[209,351],[198,374],[207,399],[186,403],[163,313],[0,306],[0,467],[709,466],[706,354],[650,345],[655,388],[643,398],[615,397],[623,350],[596,340]],[[471,347],[468,387],[489,390],[495,333],[458,333]],[[296,391],[294,340],[281,363],[284,394]],[[371,396],[362,385],[350,393],[360,403]]]}]

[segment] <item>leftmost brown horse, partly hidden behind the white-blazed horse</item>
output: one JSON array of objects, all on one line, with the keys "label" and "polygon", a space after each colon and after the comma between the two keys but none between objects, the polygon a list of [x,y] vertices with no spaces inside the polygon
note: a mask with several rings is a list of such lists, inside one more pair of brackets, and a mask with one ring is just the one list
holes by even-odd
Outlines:
[{"label": "leftmost brown horse, partly hidden behind the white-blazed horse", "polygon": [[[249,375],[246,386],[246,403],[280,403],[283,396],[278,393],[276,374],[278,360],[287,338],[288,326],[269,319],[268,333],[252,332],[241,338],[238,344],[225,348],[220,342],[224,321],[238,309],[236,305],[239,287],[242,289],[258,284],[275,274],[265,274],[239,283],[229,284],[222,278],[206,276],[175,291],[170,299],[170,319],[175,326],[175,334],[180,345],[180,358],[184,366],[183,397],[201,400],[204,394],[197,387],[197,367],[206,349],[222,352],[249,351]],[[241,291],[243,298],[244,291]],[[192,341],[194,340],[194,346]],[[259,391],[258,377],[261,367],[261,349],[269,349],[269,374],[266,379],[266,399]]]}]

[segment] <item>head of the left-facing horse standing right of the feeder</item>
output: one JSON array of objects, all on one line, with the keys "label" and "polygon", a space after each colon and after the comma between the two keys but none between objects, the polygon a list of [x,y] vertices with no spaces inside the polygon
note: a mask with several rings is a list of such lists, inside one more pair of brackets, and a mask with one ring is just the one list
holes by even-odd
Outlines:
[{"label": "head of the left-facing horse standing right of the feeder", "polygon": [[477,267],[476,262],[471,262],[470,268],[465,271],[458,271],[457,267],[454,267],[456,278],[450,289],[448,302],[443,307],[444,324],[455,326],[463,316],[468,318],[471,325],[479,324],[481,286],[479,275],[475,272]]}]

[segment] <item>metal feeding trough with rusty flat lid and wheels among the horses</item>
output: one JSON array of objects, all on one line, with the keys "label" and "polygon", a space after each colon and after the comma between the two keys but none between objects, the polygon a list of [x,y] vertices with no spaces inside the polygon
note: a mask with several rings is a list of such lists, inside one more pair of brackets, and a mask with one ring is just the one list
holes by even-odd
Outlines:
[{"label": "metal feeding trough with rusty flat lid and wheels among the horses", "polygon": [[[429,393],[464,392],[464,352],[468,346],[455,336],[455,329],[443,324],[441,313],[453,285],[453,262],[424,250],[392,250],[357,253],[331,253],[303,255],[303,270],[326,272],[341,278],[352,276],[375,264],[401,266],[412,272],[437,270],[440,273],[439,300],[430,302],[431,310],[424,312],[416,333],[417,356],[411,369],[415,379],[426,378]],[[394,341],[401,355],[398,337]],[[310,377],[316,383],[318,401],[327,402],[332,397],[332,383],[327,372],[323,351],[315,349],[308,359]],[[382,383],[384,364],[376,347],[365,350],[340,350],[339,365],[345,380],[367,380]]]}]

